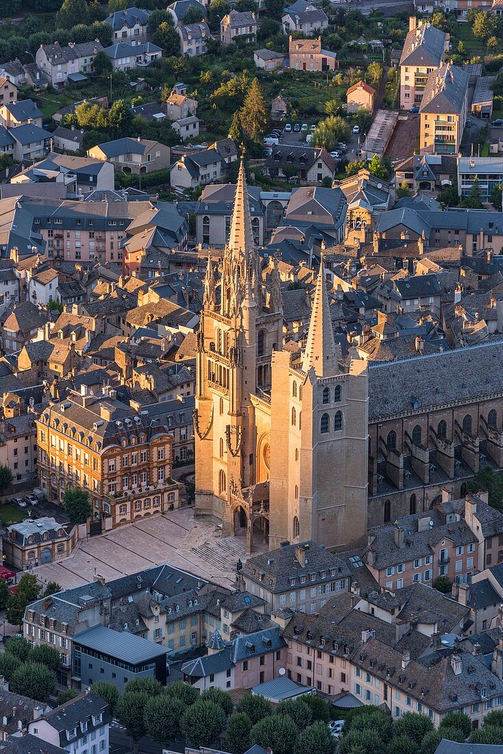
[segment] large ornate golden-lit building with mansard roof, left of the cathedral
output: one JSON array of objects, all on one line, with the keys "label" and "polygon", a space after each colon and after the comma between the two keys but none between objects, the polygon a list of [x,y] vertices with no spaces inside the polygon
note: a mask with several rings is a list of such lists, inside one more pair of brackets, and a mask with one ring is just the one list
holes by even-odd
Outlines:
[{"label": "large ornate golden-lit building with mansard roof, left of the cathedral", "polygon": [[161,422],[146,421],[117,400],[115,391],[72,393],[44,409],[37,421],[38,472],[49,500],[66,489],[89,492],[92,531],[178,506],[179,486],[170,478],[173,439]]}]

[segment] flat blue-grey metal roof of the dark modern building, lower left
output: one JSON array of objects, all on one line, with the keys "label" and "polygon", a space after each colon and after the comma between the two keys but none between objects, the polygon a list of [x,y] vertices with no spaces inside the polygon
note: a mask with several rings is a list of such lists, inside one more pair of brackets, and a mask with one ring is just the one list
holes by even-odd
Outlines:
[{"label": "flat blue-grey metal roof of the dark modern building, lower left", "polygon": [[73,642],[87,649],[109,654],[130,665],[140,665],[168,652],[166,647],[150,642],[149,639],[142,639],[141,636],[135,636],[128,631],[115,631],[106,626],[95,626],[78,633],[74,636]]}]

